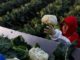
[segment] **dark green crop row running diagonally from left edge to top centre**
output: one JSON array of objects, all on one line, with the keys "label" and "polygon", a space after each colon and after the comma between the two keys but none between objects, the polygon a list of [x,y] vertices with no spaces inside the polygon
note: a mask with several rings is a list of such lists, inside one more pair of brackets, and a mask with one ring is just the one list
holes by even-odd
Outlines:
[{"label": "dark green crop row running diagonally from left edge to top centre", "polygon": [[32,0],[28,4],[26,3],[16,9],[12,9],[11,12],[7,11],[5,15],[0,17],[0,25],[9,28],[14,28],[14,26],[21,27],[34,17],[38,17],[39,15],[37,12],[53,1],[54,0],[34,0],[33,2]]}]

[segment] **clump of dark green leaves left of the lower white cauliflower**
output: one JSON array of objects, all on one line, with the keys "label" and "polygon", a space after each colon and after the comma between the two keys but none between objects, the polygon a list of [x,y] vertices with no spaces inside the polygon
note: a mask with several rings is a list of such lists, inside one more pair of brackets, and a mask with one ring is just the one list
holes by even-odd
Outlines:
[{"label": "clump of dark green leaves left of the lower white cauliflower", "polygon": [[7,37],[0,37],[0,53],[4,54],[6,58],[17,57],[20,60],[29,60],[29,49],[31,46],[24,41],[22,36],[11,40]]}]

